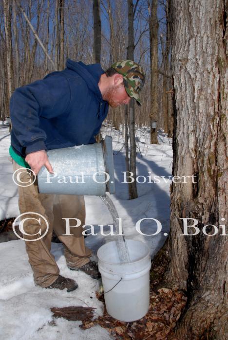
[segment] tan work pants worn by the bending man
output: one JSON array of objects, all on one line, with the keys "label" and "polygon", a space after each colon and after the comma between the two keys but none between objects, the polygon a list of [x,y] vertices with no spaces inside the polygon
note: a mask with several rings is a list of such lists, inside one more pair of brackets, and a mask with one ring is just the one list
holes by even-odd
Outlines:
[{"label": "tan work pants worn by the bending man", "polygon": [[[23,171],[19,175],[20,181],[28,183],[31,179],[29,172],[14,160],[12,162],[14,171],[18,169]],[[37,181],[30,186],[18,186],[18,191],[20,214],[38,213],[47,219],[49,225],[48,232],[44,237],[37,241],[25,241],[35,283],[39,286],[47,287],[55,282],[59,275],[59,268],[50,252],[53,230],[63,243],[67,265],[79,268],[88,263],[92,251],[85,246],[84,236],[82,235],[82,226],[85,224],[84,197],[79,195],[39,194]],[[45,221],[42,218],[37,221],[39,216],[26,214],[23,218],[29,218],[24,221],[23,229],[25,233],[30,235],[23,235],[24,238],[29,240],[37,239],[40,236],[39,231],[41,235],[46,231]],[[75,226],[76,220],[73,218],[78,218],[81,225],[76,228],[70,228],[72,235],[63,235],[66,233],[66,222],[62,218],[72,218],[70,226]]]}]

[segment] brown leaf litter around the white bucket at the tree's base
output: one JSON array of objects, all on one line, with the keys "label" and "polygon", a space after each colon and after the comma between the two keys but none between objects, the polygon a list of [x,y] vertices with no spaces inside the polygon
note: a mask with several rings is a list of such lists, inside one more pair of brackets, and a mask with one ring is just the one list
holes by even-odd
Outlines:
[{"label": "brown leaf litter around the white bucket at the tree's base", "polygon": [[[98,298],[103,300],[103,295]],[[140,320],[121,322],[112,318],[105,309],[102,317],[99,316],[93,322],[83,322],[80,327],[87,329],[99,324],[107,329],[114,339],[166,340],[168,335],[172,334],[186,301],[187,298],[181,291],[162,287],[156,292],[151,291],[149,311]]]}]

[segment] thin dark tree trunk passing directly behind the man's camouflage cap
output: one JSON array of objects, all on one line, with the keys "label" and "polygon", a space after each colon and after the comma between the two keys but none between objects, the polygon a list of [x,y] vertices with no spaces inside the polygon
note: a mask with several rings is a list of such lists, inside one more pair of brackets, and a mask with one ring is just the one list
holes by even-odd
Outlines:
[{"label": "thin dark tree trunk passing directly behind the man's camouflage cap", "polygon": [[[127,58],[134,60],[134,26],[133,26],[133,0],[128,0],[128,54]],[[129,104],[129,135],[130,135],[130,171],[133,173],[133,183],[129,183],[129,197],[134,199],[138,197],[136,187],[136,145],[135,145],[135,131],[134,131],[134,99],[131,99]]]}]

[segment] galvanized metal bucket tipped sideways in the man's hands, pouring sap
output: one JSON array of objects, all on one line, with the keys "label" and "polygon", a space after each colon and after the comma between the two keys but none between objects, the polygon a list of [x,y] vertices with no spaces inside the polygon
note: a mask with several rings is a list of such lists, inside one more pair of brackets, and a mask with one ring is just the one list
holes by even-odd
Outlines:
[{"label": "galvanized metal bucket tipped sideways in the man's hands, pouring sap", "polygon": [[54,174],[43,166],[38,189],[43,194],[103,196],[115,192],[112,137],[102,143],[47,151]]}]

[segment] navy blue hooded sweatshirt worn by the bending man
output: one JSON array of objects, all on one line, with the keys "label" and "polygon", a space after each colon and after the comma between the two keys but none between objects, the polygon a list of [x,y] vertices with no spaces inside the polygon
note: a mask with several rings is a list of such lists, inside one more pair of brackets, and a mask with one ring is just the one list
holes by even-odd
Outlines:
[{"label": "navy blue hooded sweatshirt worn by the bending man", "polygon": [[10,100],[11,147],[25,156],[95,143],[108,103],[98,82],[100,64],[85,65],[68,59],[66,69],[15,90]]}]

